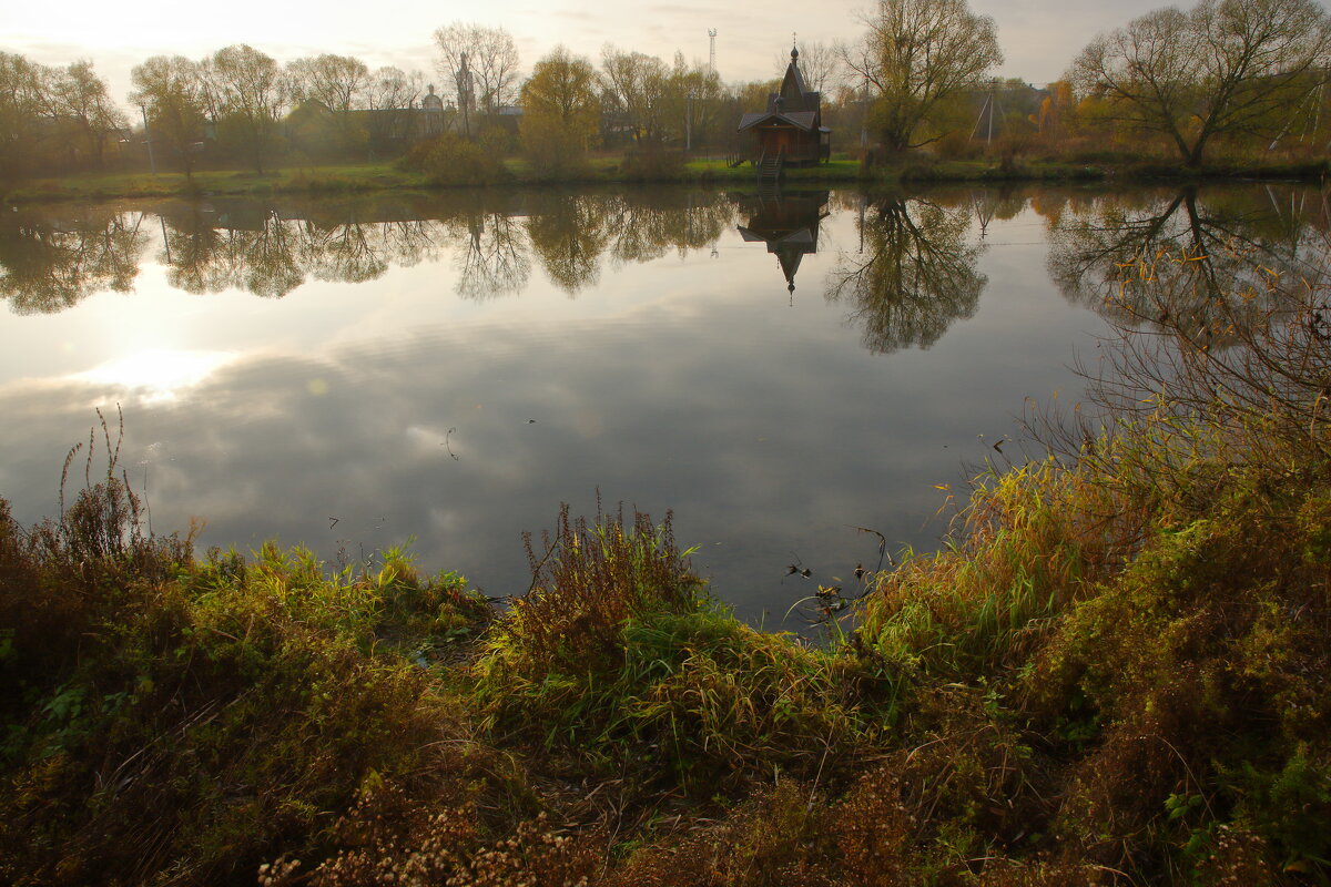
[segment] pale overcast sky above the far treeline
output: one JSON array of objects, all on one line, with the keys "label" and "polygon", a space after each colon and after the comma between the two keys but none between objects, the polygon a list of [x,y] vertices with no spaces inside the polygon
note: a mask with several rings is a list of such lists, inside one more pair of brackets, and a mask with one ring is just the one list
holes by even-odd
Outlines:
[{"label": "pale overcast sky above the far treeline", "polygon": [[[998,72],[1037,85],[1055,80],[1098,32],[1125,24],[1161,0],[972,0],[993,16],[1006,63]],[[229,0],[181,3],[72,0],[47,5],[32,0],[0,3],[0,49],[33,61],[63,65],[92,59],[116,98],[129,92],[129,70],[154,55],[200,59],[222,47],[248,43],[278,61],[333,52],[359,57],[371,68],[394,64],[437,80],[431,33],[451,21],[478,21],[507,29],[524,69],[555,44],[599,60],[612,43],[669,60],[675,51],[707,61],[709,28],[716,36],[716,68],[727,82],[776,76],[776,60],[789,51],[792,32],[804,41],[853,40],[866,0],[768,0],[765,4],[594,3],[591,0]],[[763,12],[759,12],[763,9]]]}]

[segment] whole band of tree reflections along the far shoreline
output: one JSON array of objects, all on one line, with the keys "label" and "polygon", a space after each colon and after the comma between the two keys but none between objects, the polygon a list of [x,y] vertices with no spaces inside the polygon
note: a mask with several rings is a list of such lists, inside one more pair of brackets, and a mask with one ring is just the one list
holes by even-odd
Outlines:
[{"label": "whole band of tree reflections along the far shoreline", "polygon": [[[825,214],[817,198],[801,222],[808,242],[799,255],[817,249]],[[780,201],[767,202],[777,215],[791,214]],[[829,203],[858,211],[860,247],[839,257],[827,297],[849,307],[866,347],[890,352],[929,347],[974,313],[986,283],[977,265],[988,223],[1010,218],[1028,201],[985,190],[872,201],[832,194]],[[1230,335],[1217,318],[1231,323],[1278,307],[1272,281],[1322,274],[1327,251],[1327,206],[1320,191],[1303,186],[1118,195],[1041,189],[1029,205],[1046,218],[1047,269],[1067,299],[1110,319],[1167,319],[1217,342]],[[168,203],[160,223],[121,210],[25,210],[0,215],[0,295],[12,311],[33,314],[97,291],[129,291],[158,226],[168,283],[196,294],[240,289],[278,298],[307,279],[370,281],[394,266],[449,255],[462,298],[519,294],[536,263],[575,295],[598,282],[607,259],[638,263],[715,245],[741,211],[747,229],[768,239],[761,230],[772,226],[763,227],[764,209],[752,198],[685,189],[290,203],[218,198]],[[800,227],[785,221],[777,239]],[[788,281],[796,251],[783,254]]]}]

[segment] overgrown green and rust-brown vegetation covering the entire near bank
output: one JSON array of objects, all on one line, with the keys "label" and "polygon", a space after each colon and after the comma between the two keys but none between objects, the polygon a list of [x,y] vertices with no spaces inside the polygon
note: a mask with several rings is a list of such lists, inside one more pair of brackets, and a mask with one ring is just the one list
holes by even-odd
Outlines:
[{"label": "overgrown green and rust-brown vegetation covering the entire near bank", "polygon": [[502,610],[403,552],[198,557],[104,426],[59,519],[0,508],[0,879],[1326,883],[1326,297],[1169,327],[1177,269],[1122,269],[1169,334],[1105,426],[825,589],[821,646],[733,620],[668,517],[563,512]]}]

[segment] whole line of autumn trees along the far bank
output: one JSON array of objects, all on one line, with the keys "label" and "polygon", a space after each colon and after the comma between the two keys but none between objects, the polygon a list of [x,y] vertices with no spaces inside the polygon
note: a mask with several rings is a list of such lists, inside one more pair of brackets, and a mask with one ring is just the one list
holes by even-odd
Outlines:
[{"label": "whole line of autumn trees along the far bank", "polygon": [[[865,27],[866,25],[866,27]],[[937,25],[937,27],[934,27]],[[1331,140],[1331,19],[1312,0],[1202,0],[1098,35],[1053,84],[993,77],[993,19],[965,0],[880,0],[848,40],[800,47],[833,150],[868,158],[988,156],[1073,162],[1320,160]],[[646,176],[691,154],[743,157],[740,114],[773,80],[607,44],[599,60],[555,47],[526,72],[503,28],[434,32],[435,82],[351,56],[286,64],[249,45],[133,69],[128,117],[89,61],[52,68],[0,52],[0,184],[81,169],[181,170],[402,156],[484,182],[507,156],[570,177],[592,152]],[[437,144],[438,142],[438,144]]]}]

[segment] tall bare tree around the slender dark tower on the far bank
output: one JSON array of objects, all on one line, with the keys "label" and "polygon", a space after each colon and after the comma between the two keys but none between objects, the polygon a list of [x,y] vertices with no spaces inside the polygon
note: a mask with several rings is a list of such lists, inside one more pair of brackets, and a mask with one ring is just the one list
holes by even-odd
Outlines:
[{"label": "tall bare tree around the slender dark tower on the far bank", "polygon": [[434,32],[435,68],[470,134],[475,105],[488,116],[518,100],[518,47],[503,28],[454,21]]}]

